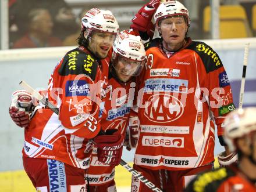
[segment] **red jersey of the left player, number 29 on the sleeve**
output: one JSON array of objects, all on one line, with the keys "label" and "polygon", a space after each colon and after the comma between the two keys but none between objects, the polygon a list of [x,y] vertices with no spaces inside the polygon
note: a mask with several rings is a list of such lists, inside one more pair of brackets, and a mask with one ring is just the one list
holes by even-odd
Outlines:
[{"label": "red jersey of the left player, number 29 on the sleeve", "polygon": [[36,111],[25,129],[23,155],[88,168],[93,148],[88,139],[100,130],[101,90],[107,84],[110,56],[97,61],[82,46],[66,53],[48,85],[49,102],[59,108],[59,115],[48,108]]}]

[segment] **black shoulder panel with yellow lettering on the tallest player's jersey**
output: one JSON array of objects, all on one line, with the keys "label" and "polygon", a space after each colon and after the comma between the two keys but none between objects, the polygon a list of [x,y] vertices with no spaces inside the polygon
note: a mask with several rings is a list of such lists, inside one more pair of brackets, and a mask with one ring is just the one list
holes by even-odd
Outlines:
[{"label": "black shoulder panel with yellow lettering on the tallest player's jersey", "polygon": [[207,73],[223,66],[218,54],[204,42],[192,41],[187,49],[194,50],[201,57],[202,63],[204,63],[204,67]]}]

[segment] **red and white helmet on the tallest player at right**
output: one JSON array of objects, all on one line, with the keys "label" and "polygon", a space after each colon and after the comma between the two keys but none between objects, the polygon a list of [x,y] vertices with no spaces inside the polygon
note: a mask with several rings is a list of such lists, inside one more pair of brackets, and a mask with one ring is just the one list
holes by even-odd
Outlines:
[{"label": "red and white helmet on the tallest player at right", "polygon": [[182,15],[186,17],[187,24],[190,24],[189,10],[187,10],[187,8],[185,8],[182,3],[180,3],[179,1],[162,2],[155,11],[155,23],[158,27],[159,20],[176,15]]}]

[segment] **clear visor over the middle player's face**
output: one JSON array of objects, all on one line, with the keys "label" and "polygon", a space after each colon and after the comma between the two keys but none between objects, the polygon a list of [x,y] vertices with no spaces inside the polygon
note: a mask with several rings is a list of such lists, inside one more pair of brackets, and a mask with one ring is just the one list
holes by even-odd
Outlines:
[{"label": "clear visor over the middle player's face", "polygon": [[116,60],[112,61],[112,64],[118,74],[138,76],[143,70],[145,60],[137,61],[118,55]]}]

